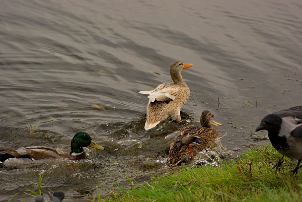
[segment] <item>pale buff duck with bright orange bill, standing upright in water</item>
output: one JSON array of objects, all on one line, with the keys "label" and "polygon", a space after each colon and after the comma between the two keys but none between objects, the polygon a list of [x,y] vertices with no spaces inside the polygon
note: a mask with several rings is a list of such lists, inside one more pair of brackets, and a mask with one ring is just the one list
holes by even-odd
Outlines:
[{"label": "pale buff duck with bright orange bill, standing upright in water", "polygon": [[168,117],[171,117],[178,123],[181,121],[180,108],[189,99],[190,89],[183,80],[180,72],[182,69],[188,67],[192,67],[192,64],[183,64],[180,61],[174,61],[170,65],[172,82],[159,84],[154,90],[139,92],[149,95],[147,121],[145,124],[146,131],[155,127]]}]

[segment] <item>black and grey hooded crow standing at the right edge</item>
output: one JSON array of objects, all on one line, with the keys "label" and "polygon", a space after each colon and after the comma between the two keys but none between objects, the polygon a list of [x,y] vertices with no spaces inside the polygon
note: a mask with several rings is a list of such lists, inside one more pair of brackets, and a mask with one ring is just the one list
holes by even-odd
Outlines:
[{"label": "black and grey hooded crow standing at the right edge", "polygon": [[[298,174],[302,161],[302,106],[291,107],[264,117],[257,131],[267,130],[273,147],[293,162],[298,160],[293,174]],[[275,165],[276,172],[283,161],[282,158]]]}]

